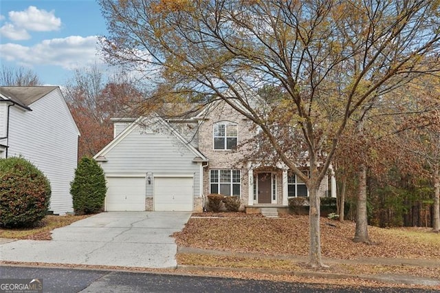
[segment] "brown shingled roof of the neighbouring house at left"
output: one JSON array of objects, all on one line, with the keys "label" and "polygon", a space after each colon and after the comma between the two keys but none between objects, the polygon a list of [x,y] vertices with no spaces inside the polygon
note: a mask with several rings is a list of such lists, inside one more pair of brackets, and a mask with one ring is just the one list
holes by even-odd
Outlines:
[{"label": "brown shingled roof of the neighbouring house at left", "polygon": [[10,100],[25,109],[58,87],[0,87],[0,98]]}]

